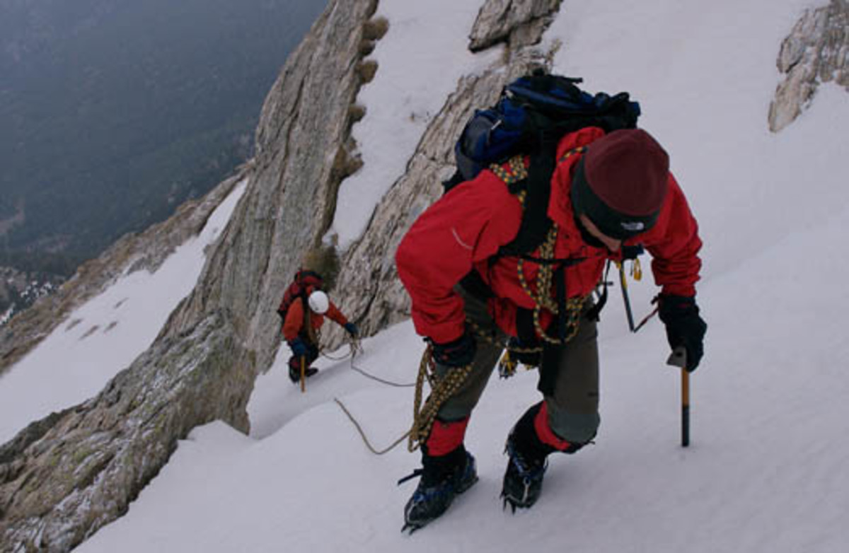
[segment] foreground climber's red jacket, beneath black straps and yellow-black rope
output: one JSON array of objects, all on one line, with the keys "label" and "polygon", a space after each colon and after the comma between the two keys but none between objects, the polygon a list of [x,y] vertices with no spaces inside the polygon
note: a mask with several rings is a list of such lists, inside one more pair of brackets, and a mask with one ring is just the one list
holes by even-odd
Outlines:
[{"label": "foreground climber's red jacket, beneath black straps and yellow-black rope", "polygon": [[[586,146],[604,131],[591,127],[563,137],[558,159],[573,148]],[[621,259],[621,252],[584,243],[569,197],[571,171],[580,155],[559,163],[552,176],[548,217],[559,232],[554,246],[556,259],[583,258],[565,270],[566,296],[586,296],[593,291],[607,260]],[[398,275],[413,299],[416,331],[437,343],[450,342],[464,332],[463,299],[453,287],[474,267],[489,285],[495,298],[489,300],[490,314],[504,332],[516,336],[517,306],[532,309],[533,300],[522,290],[516,257],[489,258],[519,232],[522,208],[504,182],[490,170],[474,180],[454,187],[426,209],[403,237],[396,252]],[[669,175],[669,190],[657,223],[649,231],[630,238],[625,245],[643,244],[652,255],[655,282],[663,293],[694,296],[699,280],[701,240],[678,182]],[[539,265],[526,261],[526,282],[535,286]],[[554,287],[553,287],[554,288]],[[551,292],[554,294],[554,290]],[[552,315],[543,310],[543,325]]]}]

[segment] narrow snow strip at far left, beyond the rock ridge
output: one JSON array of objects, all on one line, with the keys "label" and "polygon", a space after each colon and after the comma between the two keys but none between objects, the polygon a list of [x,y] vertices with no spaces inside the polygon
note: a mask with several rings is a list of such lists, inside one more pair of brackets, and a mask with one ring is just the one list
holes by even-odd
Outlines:
[{"label": "narrow snow strip at far left, beyond the rock ridge", "polygon": [[200,234],[175,249],[157,271],[122,275],[0,377],[0,444],[29,422],[97,394],[149,347],[194,288],[205,247],[223,230],[246,186],[234,187]]}]

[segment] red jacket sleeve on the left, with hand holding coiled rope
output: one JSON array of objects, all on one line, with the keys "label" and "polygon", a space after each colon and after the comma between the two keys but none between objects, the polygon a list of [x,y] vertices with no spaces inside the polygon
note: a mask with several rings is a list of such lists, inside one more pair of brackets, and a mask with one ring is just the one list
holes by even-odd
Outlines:
[{"label": "red jacket sleeve on the left, with hand holding coiled rope", "polygon": [[453,287],[475,261],[515,237],[521,218],[519,200],[489,170],[419,215],[396,252],[398,276],[413,299],[416,332],[436,343],[463,334],[463,299]]}]

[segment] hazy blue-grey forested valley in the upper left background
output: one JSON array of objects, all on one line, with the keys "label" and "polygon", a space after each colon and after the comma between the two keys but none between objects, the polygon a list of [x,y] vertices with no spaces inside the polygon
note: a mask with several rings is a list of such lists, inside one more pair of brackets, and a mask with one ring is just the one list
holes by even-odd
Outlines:
[{"label": "hazy blue-grey forested valley in the upper left background", "polygon": [[20,282],[69,276],[250,157],[324,6],[0,0],[0,316]]}]

